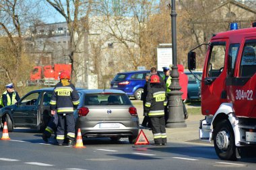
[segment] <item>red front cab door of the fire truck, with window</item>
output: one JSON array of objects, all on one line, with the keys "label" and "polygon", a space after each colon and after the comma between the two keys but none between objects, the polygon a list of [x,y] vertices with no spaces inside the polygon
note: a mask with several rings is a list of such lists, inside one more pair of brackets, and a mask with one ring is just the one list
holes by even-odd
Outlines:
[{"label": "red front cab door of the fire truck, with window", "polygon": [[201,108],[203,115],[214,115],[225,97],[226,60],[228,40],[211,42],[203,68]]}]

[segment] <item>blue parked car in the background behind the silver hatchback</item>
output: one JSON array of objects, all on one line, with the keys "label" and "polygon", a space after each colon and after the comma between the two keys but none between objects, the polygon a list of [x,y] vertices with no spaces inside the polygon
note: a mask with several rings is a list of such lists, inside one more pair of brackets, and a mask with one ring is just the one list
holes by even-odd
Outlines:
[{"label": "blue parked car in the background behind the silver hatchback", "polygon": [[[146,83],[145,77],[150,75],[150,71],[129,71],[117,73],[110,82],[110,89],[119,89],[124,91],[129,97],[141,99],[143,87]],[[164,72],[158,71],[158,75],[164,76]]]}]

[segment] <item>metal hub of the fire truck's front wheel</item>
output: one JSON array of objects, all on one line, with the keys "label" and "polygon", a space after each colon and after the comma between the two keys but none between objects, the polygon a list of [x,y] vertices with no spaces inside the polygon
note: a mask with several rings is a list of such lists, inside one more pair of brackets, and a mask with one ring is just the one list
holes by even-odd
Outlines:
[{"label": "metal hub of the fire truck's front wheel", "polygon": [[230,135],[226,131],[220,131],[218,132],[216,136],[216,144],[218,148],[222,150],[228,149],[228,146],[230,144]]}]

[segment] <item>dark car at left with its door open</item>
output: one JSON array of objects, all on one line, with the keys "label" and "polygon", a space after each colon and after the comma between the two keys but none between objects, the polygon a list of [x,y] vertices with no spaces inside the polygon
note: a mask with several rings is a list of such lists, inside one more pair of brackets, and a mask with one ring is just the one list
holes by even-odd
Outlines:
[{"label": "dark car at left with its door open", "polygon": [[0,125],[7,122],[9,132],[13,127],[34,128],[44,130],[51,118],[50,101],[53,88],[30,91],[15,105],[9,105],[0,110]]}]

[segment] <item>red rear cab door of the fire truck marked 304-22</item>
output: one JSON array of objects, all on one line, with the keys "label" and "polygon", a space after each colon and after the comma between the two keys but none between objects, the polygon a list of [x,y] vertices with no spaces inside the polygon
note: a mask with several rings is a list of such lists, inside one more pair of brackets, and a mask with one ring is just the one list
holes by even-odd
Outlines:
[{"label": "red rear cab door of the fire truck marked 304-22", "polygon": [[234,77],[227,78],[227,89],[236,116],[256,118],[256,38],[248,38],[242,46]]}]

